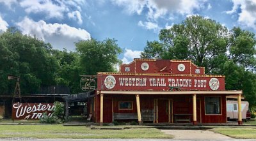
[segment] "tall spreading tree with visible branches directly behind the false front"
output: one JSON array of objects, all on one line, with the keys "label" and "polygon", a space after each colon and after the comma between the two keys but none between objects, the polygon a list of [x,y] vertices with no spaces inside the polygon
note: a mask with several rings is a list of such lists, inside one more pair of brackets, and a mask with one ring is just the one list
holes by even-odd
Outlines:
[{"label": "tall spreading tree with visible branches directly behind the false front", "polygon": [[227,28],[200,16],[188,17],[181,24],[162,29],[159,40],[148,42],[141,57],[190,59],[204,66],[205,61],[227,52]]}]

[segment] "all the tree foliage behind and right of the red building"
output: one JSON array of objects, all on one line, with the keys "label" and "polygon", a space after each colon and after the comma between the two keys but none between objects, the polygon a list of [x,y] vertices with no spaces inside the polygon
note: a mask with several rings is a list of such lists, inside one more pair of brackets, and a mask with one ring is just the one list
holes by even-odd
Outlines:
[{"label": "all the tree foliage behind and right of the red building", "polygon": [[234,27],[228,31],[215,20],[188,17],[170,29],[162,29],[159,41],[148,41],[143,58],[190,59],[205,73],[225,75],[226,89],[242,89],[256,105],[255,34]]}]

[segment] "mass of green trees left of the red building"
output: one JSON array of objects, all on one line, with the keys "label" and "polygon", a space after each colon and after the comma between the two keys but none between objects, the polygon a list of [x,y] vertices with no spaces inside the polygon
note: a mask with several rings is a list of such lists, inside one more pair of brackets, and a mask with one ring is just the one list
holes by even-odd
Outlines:
[{"label": "mass of green trees left of the red building", "polygon": [[54,50],[50,43],[22,34],[15,27],[0,34],[0,94],[13,94],[20,77],[21,94],[38,93],[40,87],[65,85],[71,93],[81,93],[81,75],[115,71],[122,50],[116,40],[86,40],[76,43],[76,51]]}]

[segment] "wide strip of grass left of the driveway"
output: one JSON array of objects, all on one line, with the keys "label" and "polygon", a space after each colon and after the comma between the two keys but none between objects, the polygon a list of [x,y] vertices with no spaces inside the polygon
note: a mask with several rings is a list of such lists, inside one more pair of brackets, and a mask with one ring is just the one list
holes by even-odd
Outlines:
[{"label": "wide strip of grass left of the driveway", "polygon": [[[109,126],[111,127],[111,126]],[[115,126],[119,127],[119,126]],[[120,126],[122,128],[124,126]],[[86,126],[1,125],[0,138],[173,138],[155,128],[132,128],[125,130],[91,130]]]}]

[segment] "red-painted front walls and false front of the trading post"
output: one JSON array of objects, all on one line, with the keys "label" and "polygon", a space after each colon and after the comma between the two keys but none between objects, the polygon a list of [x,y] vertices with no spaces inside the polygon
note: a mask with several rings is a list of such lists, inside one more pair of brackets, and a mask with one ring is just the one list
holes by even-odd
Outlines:
[{"label": "red-painted front walls and false front of the trading post", "polygon": [[[142,69],[141,64],[147,63],[148,68]],[[179,64],[186,68],[183,71],[178,69]],[[108,78],[115,81],[108,81]],[[210,87],[210,80],[217,79],[218,89]],[[156,82],[154,82],[156,80]],[[179,83],[177,83],[179,82]],[[180,82],[182,85],[180,85]],[[184,85],[184,82],[188,82]],[[190,82],[190,84],[189,84]],[[200,82],[200,85],[198,85]],[[211,83],[212,84],[212,83]],[[111,87],[110,87],[111,86]],[[140,95],[141,109],[153,110],[154,100],[158,101],[158,122],[168,122],[168,101],[170,100],[170,122],[174,122],[175,114],[180,119],[189,119],[193,124],[197,123],[225,123],[227,122],[226,95],[225,94],[196,94],[196,121],[193,121],[193,99],[192,94],[150,94],[150,91],[225,91],[225,76],[205,75],[204,67],[198,67],[191,61],[184,60],[156,60],[156,59],[134,59],[130,64],[122,64],[120,73],[98,73],[97,90],[103,91],[148,91],[148,94]],[[175,89],[179,87],[179,89]],[[115,92],[116,93],[116,92]],[[137,93],[138,94],[138,93]],[[205,96],[221,97],[221,114],[205,114]],[[104,94],[104,98],[112,98],[113,113],[136,113],[136,98],[134,95],[125,94]],[[105,100],[105,99],[104,99]],[[119,101],[132,101],[132,110],[118,109]],[[104,105],[106,101],[104,101]],[[108,103],[110,105],[110,103]],[[104,108],[105,109],[105,108]],[[109,109],[108,109],[108,112]],[[109,114],[109,113],[108,113]],[[100,98],[96,96],[95,117],[96,122],[100,121]],[[105,114],[104,114],[105,115]],[[183,116],[183,117],[182,117]],[[105,121],[112,120],[113,117],[104,117]],[[154,119],[156,121],[156,119]],[[188,120],[180,120],[188,122]]]}]

